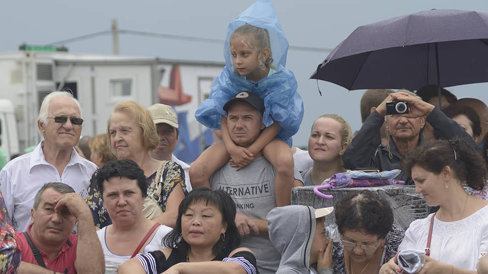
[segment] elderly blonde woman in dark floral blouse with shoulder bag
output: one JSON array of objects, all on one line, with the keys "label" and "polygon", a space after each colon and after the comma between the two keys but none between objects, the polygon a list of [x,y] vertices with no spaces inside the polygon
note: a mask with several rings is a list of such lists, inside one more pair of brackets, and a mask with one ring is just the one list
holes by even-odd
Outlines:
[{"label": "elderly blonde woman in dark floral blouse with shoulder bag", "polygon": [[[146,175],[148,191],[144,217],[174,227],[178,205],[188,193],[185,173],[172,161],[158,161],[149,156],[149,151],[159,144],[149,111],[135,101],[117,103],[107,122],[107,134],[111,153],[119,160],[133,160]],[[88,186],[86,201],[97,227],[103,228],[112,223],[93,180]]]}]

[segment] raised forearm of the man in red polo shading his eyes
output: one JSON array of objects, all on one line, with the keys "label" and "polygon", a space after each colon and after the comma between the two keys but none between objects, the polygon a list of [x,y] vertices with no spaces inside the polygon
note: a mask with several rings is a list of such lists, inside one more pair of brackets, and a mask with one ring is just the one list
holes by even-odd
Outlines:
[{"label": "raised forearm of the man in red polo shading his eyes", "polygon": [[76,271],[84,273],[105,272],[105,260],[91,214],[78,218],[78,243],[75,260]]}]

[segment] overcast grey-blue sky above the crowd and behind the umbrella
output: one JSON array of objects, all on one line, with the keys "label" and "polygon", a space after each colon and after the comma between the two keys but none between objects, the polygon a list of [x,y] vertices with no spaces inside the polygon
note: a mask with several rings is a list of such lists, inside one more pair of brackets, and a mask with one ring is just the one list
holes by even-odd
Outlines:
[{"label": "overcast grey-blue sky above the crowd and behind the umbrella", "polygon": [[[271,1],[291,46],[331,49],[356,27],[430,9],[458,9],[488,13],[486,0],[429,1]],[[229,22],[254,1],[4,1],[0,10],[0,51],[16,51],[23,42],[48,44],[109,30],[117,19],[119,29],[225,39]],[[184,60],[224,61],[223,44],[120,35],[120,54]],[[67,44],[71,52],[111,53],[111,37]],[[325,113],[343,116],[353,130],[360,127],[359,100],[363,91],[309,80],[328,52],[289,50],[286,67],[295,73],[305,115],[295,146],[307,146],[314,119]],[[488,84],[448,88],[462,97],[488,102]]]}]

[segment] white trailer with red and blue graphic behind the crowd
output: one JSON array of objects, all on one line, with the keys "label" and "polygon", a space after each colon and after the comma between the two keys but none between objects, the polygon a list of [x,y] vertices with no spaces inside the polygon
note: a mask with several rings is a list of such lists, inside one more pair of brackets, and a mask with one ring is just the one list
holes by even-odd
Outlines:
[{"label": "white trailer with red and blue graphic behind the crowd", "polygon": [[134,100],[145,107],[171,104],[180,124],[178,158],[192,162],[212,143],[211,131],[195,119],[223,62],[166,60],[157,57],[96,55],[20,50],[0,53],[0,98],[13,102],[20,148],[41,139],[37,114],[42,98],[69,88],[80,101],[82,135],[106,132],[115,103]]}]

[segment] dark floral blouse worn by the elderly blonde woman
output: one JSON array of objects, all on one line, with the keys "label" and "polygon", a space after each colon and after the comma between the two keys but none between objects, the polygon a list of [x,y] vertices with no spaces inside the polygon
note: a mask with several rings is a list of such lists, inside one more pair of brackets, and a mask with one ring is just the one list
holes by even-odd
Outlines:
[{"label": "dark floral blouse worn by the elderly blonde woman", "polygon": [[[161,179],[156,180],[156,173],[146,179],[148,183],[147,196],[156,200],[161,210],[166,210],[166,201],[171,194],[171,191],[176,186],[181,187],[185,196],[188,194],[185,185],[185,172],[180,165],[172,161],[162,161],[163,170],[161,172]],[[158,167],[158,169],[161,166]],[[90,183],[88,184],[88,191],[86,202],[90,208],[93,216],[93,222],[98,228],[103,228],[112,224],[108,212],[103,208],[102,197],[100,191],[95,183],[95,173],[93,173]]]}]

